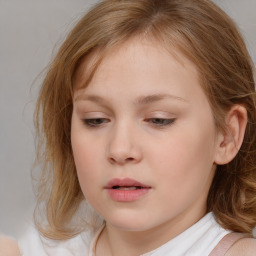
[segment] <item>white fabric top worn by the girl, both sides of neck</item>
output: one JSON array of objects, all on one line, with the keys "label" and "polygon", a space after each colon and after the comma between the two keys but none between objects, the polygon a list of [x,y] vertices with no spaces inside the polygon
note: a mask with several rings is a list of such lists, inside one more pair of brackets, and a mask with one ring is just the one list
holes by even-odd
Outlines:
[{"label": "white fabric top worn by the girl, both sides of neck", "polygon": [[[19,244],[24,256],[94,256],[93,248],[102,228],[86,231],[64,242],[53,242],[31,229]],[[200,221],[156,250],[141,256],[206,256],[230,231],[208,213]]]}]

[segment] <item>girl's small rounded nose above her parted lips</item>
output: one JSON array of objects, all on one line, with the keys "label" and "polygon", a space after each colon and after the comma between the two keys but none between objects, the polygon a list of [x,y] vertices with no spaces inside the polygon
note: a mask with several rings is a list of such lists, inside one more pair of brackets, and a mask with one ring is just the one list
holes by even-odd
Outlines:
[{"label": "girl's small rounded nose above her parted lips", "polygon": [[128,125],[113,128],[109,136],[108,161],[118,165],[140,162],[142,152],[138,137],[135,129]]}]

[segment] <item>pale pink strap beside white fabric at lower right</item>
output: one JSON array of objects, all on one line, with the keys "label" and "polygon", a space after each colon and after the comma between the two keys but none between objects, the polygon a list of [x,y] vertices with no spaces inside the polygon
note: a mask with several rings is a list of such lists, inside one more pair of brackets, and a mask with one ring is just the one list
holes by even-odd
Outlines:
[{"label": "pale pink strap beside white fabric at lower right", "polygon": [[214,247],[209,256],[223,256],[234,243],[236,243],[240,239],[247,237],[252,236],[250,234],[243,233],[229,233],[219,241],[219,243]]}]

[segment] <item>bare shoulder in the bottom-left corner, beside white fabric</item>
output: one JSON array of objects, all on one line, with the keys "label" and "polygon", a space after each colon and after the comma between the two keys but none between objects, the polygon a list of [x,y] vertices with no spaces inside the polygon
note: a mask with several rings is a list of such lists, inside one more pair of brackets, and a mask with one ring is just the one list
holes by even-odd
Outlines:
[{"label": "bare shoulder in the bottom-left corner, beside white fabric", "polygon": [[0,256],[20,256],[20,250],[15,240],[0,235]]}]

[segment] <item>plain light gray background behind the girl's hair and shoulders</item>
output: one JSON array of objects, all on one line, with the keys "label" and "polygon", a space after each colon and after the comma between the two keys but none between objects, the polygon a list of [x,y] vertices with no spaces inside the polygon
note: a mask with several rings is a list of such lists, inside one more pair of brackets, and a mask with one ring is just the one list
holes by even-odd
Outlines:
[{"label": "plain light gray background behind the girl's hair and shoulders", "polygon": [[[233,17],[256,63],[256,0],[215,0]],[[19,237],[34,204],[33,109],[66,33],[94,0],[0,0],[0,232]]]}]

